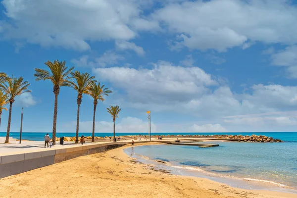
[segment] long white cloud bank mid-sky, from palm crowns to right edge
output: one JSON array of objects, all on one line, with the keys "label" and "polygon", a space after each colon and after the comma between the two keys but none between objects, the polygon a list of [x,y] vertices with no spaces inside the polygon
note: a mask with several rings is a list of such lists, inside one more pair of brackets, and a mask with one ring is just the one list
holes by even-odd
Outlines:
[{"label": "long white cloud bank mid-sky, from palm crowns to right edge", "polygon": [[[236,94],[198,67],[179,67],[160,61],[151,69],[123,67],[93,69],[114,89],[115,102],[127,107],[178,112],[207,119],[297,109],[297,87],[253,85]],[[220,123],[219,123],[220,124]]]}]

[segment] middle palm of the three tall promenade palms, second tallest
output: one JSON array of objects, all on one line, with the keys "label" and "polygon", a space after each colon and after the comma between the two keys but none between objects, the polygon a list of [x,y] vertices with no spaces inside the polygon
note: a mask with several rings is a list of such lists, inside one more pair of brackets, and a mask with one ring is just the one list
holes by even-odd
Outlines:
[{"label": "middle palm of the three tall promenade palms, second tallest", "polygon": [[90,76],[89,73],[80,73],[79,71],[71,72],[72,81],[70,86],[77,91],[77,120],[76,120],[76,139],[75,143],[78,143],[78,131],[79,131],[79,108],[82,103],[83,94],[88,94],[89,87],[94,82],[95,77]]}]

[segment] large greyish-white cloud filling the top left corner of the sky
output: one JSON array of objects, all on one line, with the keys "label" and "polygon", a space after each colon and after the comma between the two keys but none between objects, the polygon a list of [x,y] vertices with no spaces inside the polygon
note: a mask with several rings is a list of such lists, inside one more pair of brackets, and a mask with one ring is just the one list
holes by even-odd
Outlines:
[{"label": "large greyish-white cloud filling the top left corner of the sky", "polygon": [[134,0],[3,0],[1,3],[11,22],[1,28],[6,39],[88,50],[88,41],[129,40],[137,34],[129,27],[140,14]]}]

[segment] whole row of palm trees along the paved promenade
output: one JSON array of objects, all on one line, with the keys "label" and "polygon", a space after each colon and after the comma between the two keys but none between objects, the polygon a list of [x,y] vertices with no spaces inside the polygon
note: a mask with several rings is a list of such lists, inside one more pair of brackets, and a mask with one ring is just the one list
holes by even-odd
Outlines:
[{"label": "whole row of palm trees along the paved promenade", "polygon": [[[78,143],[79,133],[79,112],[80,105],[84,94],[90,95],[94,99],[94,114],[93,114],[93,130],[92,130],[92,142],[94,142],[95,134],[95,115],[98,100],[104,101],[104,97],[107,97],[112,91],[105,88],[104,85],[100,85],[100,82],[95,80],[94,76],[89,73],[81,73],[80,71],[72,71],[74,67],[68,69],[65,61],[54,60],[53,62],[47,61],[45,63],[49,70],[35,68],[36,81],[49,80],[53,84],[54,93],[54,111],[53,111],[53,125],[52,125],[52,144],[55,145],[56,138],[56,123],[57,123],[57,110],[58,110],[58,95],[60,93],[60,87],[71,87],[77,91],[77,124],[76,124],[76,140]],[[30,84],[24,81],[22,77],[12,78],[8,77],[5,73],[0,73],[0,124],[2,110],[7,110],[5,105],[9,105],[9,115],[7,124],[7,133],[5,143],[9,142],[9,131],[11,122],[11,110],[12,103],[17,96],[23,93],[31,92],[28,90]],[[110,106],[107,108],[107,112],[110,113],[113,118],[113,141],[115,141],[115,119],[118,118],[118,114],[121,111],[119,106]]]}]

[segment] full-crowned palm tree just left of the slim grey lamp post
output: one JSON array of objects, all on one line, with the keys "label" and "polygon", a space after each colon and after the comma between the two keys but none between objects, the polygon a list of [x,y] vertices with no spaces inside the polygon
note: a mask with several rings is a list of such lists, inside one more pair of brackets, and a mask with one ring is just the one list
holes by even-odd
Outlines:
[{"label": "full-crowned palm tree just left of the slim grey lamp post", "polygon": [[5,94],[8,95],[8,101],[9,101],[9,115],[8,115],[7,133],[6,133],[6,140],[4,143],[9,142],[12,103],[14,102],[14,99],[17,96],[20,96],[26,92],[31,92],[31,90],[28,90],[29,85],[30,84],[28,83],[28,81],[24,81],[23,77],[13,78],[13,76],[9,81],[2,84],[3,91]]}]

